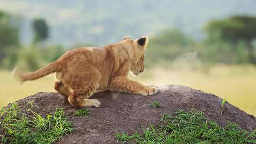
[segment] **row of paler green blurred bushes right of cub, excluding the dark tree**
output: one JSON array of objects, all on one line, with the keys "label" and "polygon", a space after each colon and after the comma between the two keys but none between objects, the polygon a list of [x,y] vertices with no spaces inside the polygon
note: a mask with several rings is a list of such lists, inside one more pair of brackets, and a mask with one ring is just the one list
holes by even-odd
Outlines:
[{"label": "row of paler green blurred bushes right of cub, excluding the dark tree", "polygon": [[[176,38],[172,38],[172,37]],[[170,39],[169,39],[170,38]],[[244,40],[236,44],[214,37],[214,42],[193,42],[181,33],[163,32],[163,34],[151,38],[146,51],[146,66],[158,63],[172,67],[175,63],[183,64],[247,64],[250,63],[247,45]],[[169,42],[168,42],[169,39]],[[183,61],[183,63],[180,63]]]}]

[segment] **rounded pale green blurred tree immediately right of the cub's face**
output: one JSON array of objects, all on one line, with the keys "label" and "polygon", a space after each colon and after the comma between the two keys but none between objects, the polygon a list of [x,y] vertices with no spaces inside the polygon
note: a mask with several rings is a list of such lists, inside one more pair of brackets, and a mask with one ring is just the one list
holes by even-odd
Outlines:
[{"label": "rounded pale green blurred tree immediately right of the cub's face", "polygon": [[165,30],[150,39],[146,51],[146,66],[174,61],[182,54],[193,52],[194,42],[178,30]]}]

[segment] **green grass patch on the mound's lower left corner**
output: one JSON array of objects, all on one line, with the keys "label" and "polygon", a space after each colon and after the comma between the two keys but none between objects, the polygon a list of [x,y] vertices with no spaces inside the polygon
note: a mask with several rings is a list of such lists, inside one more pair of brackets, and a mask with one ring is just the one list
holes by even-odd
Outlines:
[{"label": "green grass patch on the mound's lower left corner", "polygon": [[71,132],[72,124],[66,121],[63,109],[56,109],[53,115],[43,118],[33,110],[27,116],[13,103],[1,109],[0,143],[2,144],[51,144]]}]

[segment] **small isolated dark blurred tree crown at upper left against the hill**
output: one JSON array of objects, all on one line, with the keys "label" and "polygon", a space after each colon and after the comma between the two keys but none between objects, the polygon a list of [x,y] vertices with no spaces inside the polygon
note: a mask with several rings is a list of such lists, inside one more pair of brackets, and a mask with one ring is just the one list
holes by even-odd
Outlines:
[{"label": "small isolated dark blurred tree crown at upper left against the hill", "polygon": [[49,38],[49,26],[44,19],[34,19],[33,20],[33,30],[34,30],[34,40],[33,44],[42,42]]}]

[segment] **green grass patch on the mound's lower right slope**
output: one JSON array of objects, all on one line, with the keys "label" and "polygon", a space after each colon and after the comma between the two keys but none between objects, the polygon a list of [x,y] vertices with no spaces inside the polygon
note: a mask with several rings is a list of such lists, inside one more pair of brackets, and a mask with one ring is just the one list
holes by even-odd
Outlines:
[{"label": "green grass patch on the mound's lower right slope", "polygon": [[247,132],[237,124],[219,126],[202,112],[180,110],[175,117],[165,114],[159,126],[142,128],[141,133],[115,136],[122,144],[255,144],[256,130]]}]

